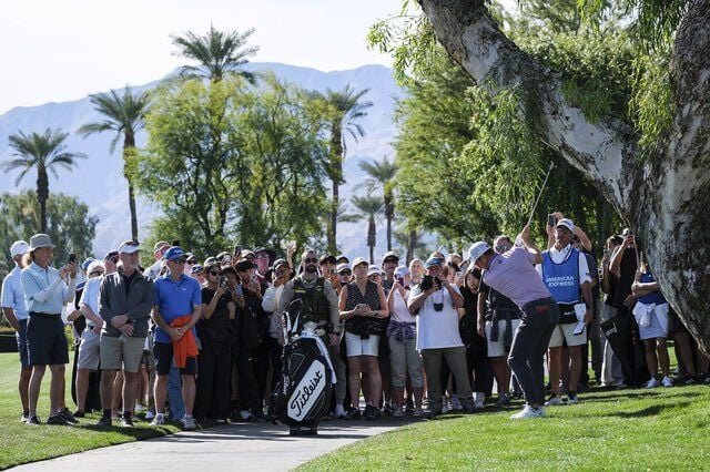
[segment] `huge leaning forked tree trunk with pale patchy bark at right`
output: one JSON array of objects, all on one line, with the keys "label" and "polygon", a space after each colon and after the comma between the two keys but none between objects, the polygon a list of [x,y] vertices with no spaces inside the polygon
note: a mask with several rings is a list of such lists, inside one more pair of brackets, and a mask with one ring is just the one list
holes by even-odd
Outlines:
[{"label": "huge leaning forked tree trunk with pale patchy bark at right", "polygon": [[541,140],[629,223],[663,295],[710,352],[710,0],[691,2],[678,28],[671,63],[677,115],[668,140],[643,163],[635,130],[611,117],[585,119],[562,96],[560,75],[506,38],[484,0],[419,3],[437,39],[477,83],[493,94],[514,85],[532,94],[538,107],[528,113]]}]

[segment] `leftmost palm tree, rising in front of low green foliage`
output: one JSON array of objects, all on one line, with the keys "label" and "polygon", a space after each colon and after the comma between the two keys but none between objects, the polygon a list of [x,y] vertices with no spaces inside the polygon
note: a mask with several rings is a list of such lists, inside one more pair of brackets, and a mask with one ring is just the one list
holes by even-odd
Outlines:
[{"label": "leftmost palm tree, rising in front of low green foliage", "polygon": [[49,199],[49,176],[51,171],[57,177],[57,168],[71,170],[77,163],[74,160],[85,157],[82,153],[67,152],[63,144],[69,133],[61,130],[52,131],[49,127],[43,134],[32,132],[27,135],[20,131],[8,138],[10,147],[14,148],[16,158],[2,163],[6,172],[20,168],[20,175],[16,185],[20,184],[31,170],[37,167],[37,199],[40,204],[40,233],[47,233],[47,201]]}]

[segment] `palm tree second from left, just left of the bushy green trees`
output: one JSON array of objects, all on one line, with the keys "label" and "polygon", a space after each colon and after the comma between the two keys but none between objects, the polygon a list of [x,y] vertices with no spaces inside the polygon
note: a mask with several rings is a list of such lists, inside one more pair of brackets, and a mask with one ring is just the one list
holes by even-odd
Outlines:
[{"label": "palm tree second from left, just left of the bushy green trees", "polygon": [[123,176],[129,183],[129,211],[131,213],[131,237],[138,240],[138,215],[135,212],[135,193],[128,172],[128,157],[135,151],[135,134],[143,127],[148,110],[149,93],[131,93],[126,86],[122,95],[114,90],[109,93],[91,95],[94,110],[103,115],[102,122],[87,123],[79,133],[88,136],[104,131],[115,132],[109,152],[113,154],[119,138],[123,136]]}]

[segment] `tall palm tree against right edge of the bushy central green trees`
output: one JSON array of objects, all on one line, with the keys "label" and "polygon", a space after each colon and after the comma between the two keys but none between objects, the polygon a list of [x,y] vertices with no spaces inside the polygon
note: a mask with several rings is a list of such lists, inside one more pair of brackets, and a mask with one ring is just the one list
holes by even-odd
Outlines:
[{"label": "tall palm tree against right edge of the bushy central green trees", "polygon": [[362,117],[367,116],[367,109],[373,106],[373,102],[361,102],[362,98],[369,92],[369,89],[355,92],[349,85],[342,91],[327,89],[323,99],[331,107],[331,114],[326,127],[331,133],[331,162],[328,165],[328,177],[333,182],[333,202],[331,209],[331,228],[328,230],[328,250],[335,252],[337,247],[337,208],[338,187],[345,182],[343,179],[343,161],[347,152],[345,136],[352,136],[355,142],[365,135],[365,130],[357,123]]}]

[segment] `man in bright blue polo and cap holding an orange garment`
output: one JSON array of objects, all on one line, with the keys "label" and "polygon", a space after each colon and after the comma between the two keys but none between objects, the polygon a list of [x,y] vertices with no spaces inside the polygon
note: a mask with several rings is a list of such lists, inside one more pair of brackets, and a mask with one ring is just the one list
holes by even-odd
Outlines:
[{"label": "man in bright blue polo and cap holding an orange garment", "polygon": [[[153,321],[156,328],[153,353],[158,362],[154,392],[156,414],[151,425],[161,425],[164,422],[168,380],[174,358],[175,367],[180,368],[182,398],[185,406],[185,415],[181,422],[184,429],[194,430],[196,425],[192,418],[192,407],[197,373],[194,326],[200,320],[202,289],[194,278],[184,275],[186,258],[185,252],[180,246],[172,246],[165,252],[168,274],[155,280]],[[186,355],[179,356],[180,352],[186,352]]]}]

